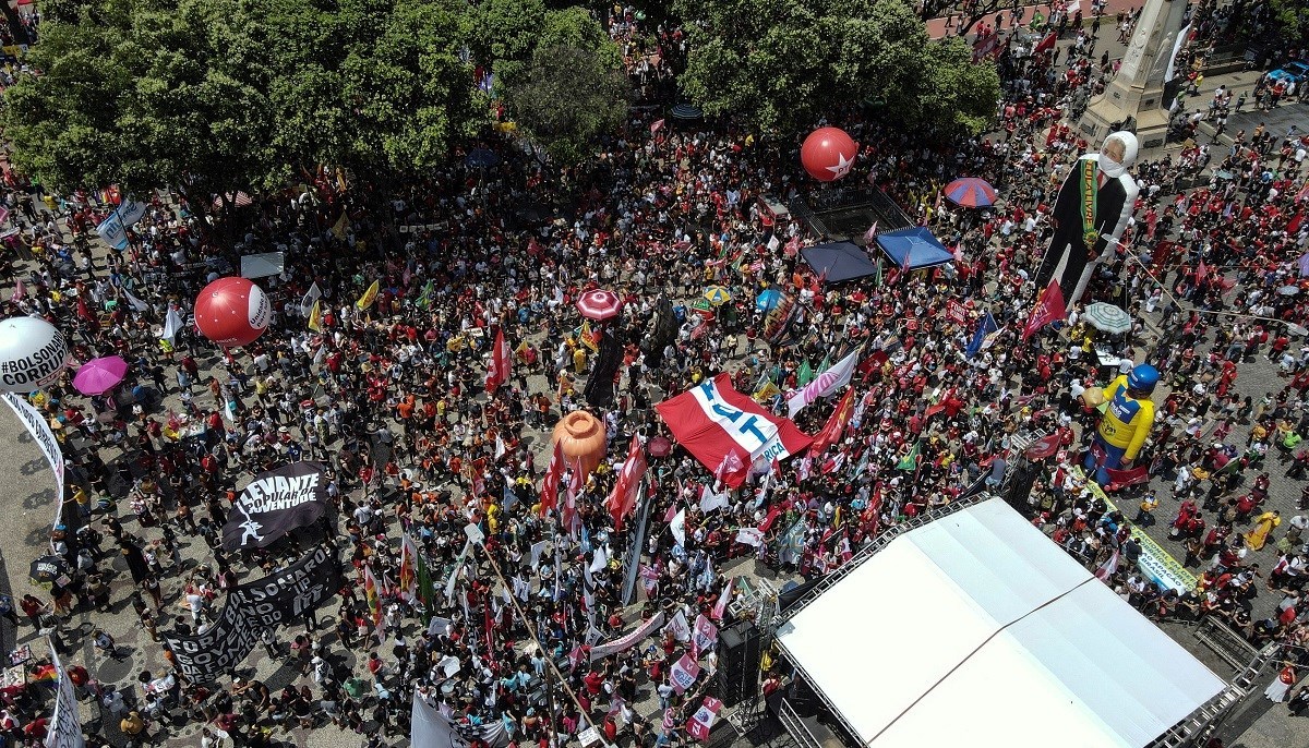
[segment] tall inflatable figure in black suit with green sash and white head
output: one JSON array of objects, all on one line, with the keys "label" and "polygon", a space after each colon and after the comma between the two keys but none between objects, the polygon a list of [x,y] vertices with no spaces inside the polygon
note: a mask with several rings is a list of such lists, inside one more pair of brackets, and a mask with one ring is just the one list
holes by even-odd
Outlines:
[{"label": "tall inflatable figure in black suit with green sash and white head", "polygon": [[1073,162],[1055,200],[1055,235],[1037,272],[1037,288],[1059,284],[1066,305],[1081,301],[1090,273],[1114,247],[1127,228],[1140,188],[1128,174],[1136,163],[1136,136],[1111,132],[1100,153],[1086,153]]}]

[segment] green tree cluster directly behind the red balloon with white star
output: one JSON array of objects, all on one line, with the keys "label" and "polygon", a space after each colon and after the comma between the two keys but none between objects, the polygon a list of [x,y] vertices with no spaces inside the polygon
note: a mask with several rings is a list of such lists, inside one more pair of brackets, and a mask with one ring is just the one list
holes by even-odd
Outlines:
[{"label": "green tree cluster directly behind the red balloon with white star", "polygon": [[932,43],[902,0],[675,0],[690,29],[679,82],[706,114],[763,133],[884,99],[907,127],[979,131],[999,95],[991,65]]}]

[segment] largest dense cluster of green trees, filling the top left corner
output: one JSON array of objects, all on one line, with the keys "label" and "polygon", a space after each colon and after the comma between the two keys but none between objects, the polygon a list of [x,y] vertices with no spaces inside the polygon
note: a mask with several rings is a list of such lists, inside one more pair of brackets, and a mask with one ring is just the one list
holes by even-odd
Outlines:
[{"label": "largest dense cluster of green trees, filling the top left corner", "polygon": [[408,171],[484,120],[456,0],[60,0],[5,92],[55,188],[270,191],[335,163]]}]

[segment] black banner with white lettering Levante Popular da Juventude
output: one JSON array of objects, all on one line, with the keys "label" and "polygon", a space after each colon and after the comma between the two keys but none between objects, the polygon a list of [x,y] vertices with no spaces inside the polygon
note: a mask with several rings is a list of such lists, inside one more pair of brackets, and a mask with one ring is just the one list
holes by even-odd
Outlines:
[{"label": "black banner with white lettering Levante Popular da Juventude", "polygon": [[263,548],[297,527],[313,524],[327,510],[322,463],[300,462],[259,473],[232,505],[223,527],[223,548]]}]

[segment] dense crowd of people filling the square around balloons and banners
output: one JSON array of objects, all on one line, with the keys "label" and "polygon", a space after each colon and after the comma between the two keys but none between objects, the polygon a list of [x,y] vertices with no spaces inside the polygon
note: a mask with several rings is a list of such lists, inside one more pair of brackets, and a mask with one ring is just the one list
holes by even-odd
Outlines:
[{"label": "dense crowd of people filling the square around balloons and banners", "polygon": [[[672,95],[670,71],[685,54],[679,31],[640,34],[622,8],[609,25],[643,101]],[[33,196],[34,186],[14,175],[5,203],[17,231],[5,238],[12,251],[0,272],[22,290],[5,299],[5,315],[50,319],[77,361],[117,353],[131,364],[111,395],[84,398],[69,373],[33,398],[63,441],[67,500],[86,530],[56,528],[52,541],[72,578],[48,603],[22,600],[31,625],[59,636],[79,612],[96,620],[130,598],[154,641],[202,630],[224,590],[285,568],[308,543],[223,551],[221,527],[245,481],[287,462],[322,460],[336,505],[322,540],[346,579],[334,615],[263,637],[264,654],[292,668],[288,685],[271,688],[246,670],[224,684],[188,683],[158,645],[158,659],[137,655],[158,664],[134,675],[135,684],[111,688],[81,670],[79,687],[111,715],[93,738],[158,736],[187,714],[204,724],[202,745],[266,745],[327,722],[381,744],[407,736],[416,690],[473,735],[499,726],[503,739],[547,745],[551,732],[562,739],[594,726],[610,740],[686,744],[687,718],[712,693],[712,647],[698,653],[698,687],[681,692],[669,672],[691,647],[675,626],[606,656],[592,659],[593,646],[656,612],[725,624],[741,613],[723,596],[744,594],[728,577],[745,560],[804,577],[829,573],[889,527],[979,480],[997,484],[1018,437],[1042,432],[1060,434],[1066,449],[1042,466],[1029,510],[1055,541],[1094,569],[1123,554],[1107,582],[1152,617],[1216,616],[1309,663],[1301,599],[1309,553],[1300,537],[1309,488],[1305,514],[1285,531],[1264,506],[1271,471],[1304,481],[1309,466],[1300,445],[1309,434],[1309,306],[1283,290],[1304,292],[1309,275],[1305,140],[1264,129],[1207,161],[1192,152],[1139,163],[1135,221],[1088,294],[1122,306],[1136,326],[1107,336],[1073,305],[1067,324],[1024,340],[1038,290],[1029,276],[1052,233],[1054,194],[1092,148],[1059,115],[1113,75],[1093,50],[1075,42],[1021,59],[1003,54],[1000,135],[924,143],[893,123],[833,115],[830,124],[861,144],[857,178],[957,247],[952,265],[889,269],[880,282],[825,284],[793,251],[817,237],[763,214],[759,197],[813,190],[793,149],[764,146],[724,123],[652,127],[661,115],[639,110],[597,160],[562,173],[488,137],[476,145],[499,154],[495,166],[473,169],[458,154],[391,192],[323,169],[301,188],[220,218],[211,207],[153,195],[122,252],[89,241],[110,209],[107,195]],[[950,205],[941,187],[961,174],[988,179],[1004,201],[990,211]],[[1177,191],[1200,174],[1211,175],[1207,184]],[[245,228],[229,245],[233,221]],[[275,302],[263,336],[234,350],[194,330],[161,341],[170,307],[185,318],[209,279],[264,251],[284,251],[285,269],[259,281]],[[376,301],[360,309],[374,281]],[[318,331],[301,303],[313,285],[322,292]],[[707,319],[692,302],[711,285],[733,298]],[[572,303],[593,288],[626,302],[618,319],[597,326],[622,345],[617,390],[602,407],[585,398],[597,354]],[[798,299],[789,332],[771,343],[754,305],[767,289]],[[952,301],[963,322],[946,315]],[[643,343],[664,302],[678,328],[651,349]],[[1000,331],[967,357],[987,313]],[[500,331],[513,350],[512,377],[484,394]],[[715,467],[674,449],[651,458],[647,541],[636,547],[630,518],[617,526],[606,498],[631,437],[669,435],[654,403],[725,371],[781,413],[772,387],[796,388],[859,345],[857,405],[826,451],[770,466],[728,506],[702,511]],[[1118,373],[1102,356],[1149,361],[1166,384],[1148,454],[1152,475],[1169,485],[1123,489],[1117,510],[1073,468],[1094,424],[1079,395]],[[1284,377],[1267,395],[1238,384],[1241,366],[1261,357]],[[579,486],[580,528],[564,532],[558,509],[541,506],[543,445],[575,409],[605,424],[610,450]],[[810,405],[797,425],[817,433],[830,412]],[[682,534],[665,519],[679,511]],[[1199,577],[1185,595],[1157,588],[1130,562],[1140,553],[1131,526],[1148,526],[1156,513],[1173,515],[1175,541]],[[484,534],[483,548],[463,551],[467,524]],[[762,541],[742,541],[742,527]],[[402,536],[418,547],[435,588],[424,605],[384,585],[374,620],[361,573],[397,582]],[[130,581],[114,577],[114,554]],[[627,607],[622,570],[632,554],[644,603]],[[1261,586],[1282,596],[1267,617],[1255,615]],[[17,622],[13,605],[8,615]],[[96,647],[123,656],[105,632]],[[772,676],[767,683],[776,687]],[[39,738],[43,702],[33,690],[0,689],[0,734]]]}]

